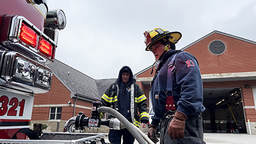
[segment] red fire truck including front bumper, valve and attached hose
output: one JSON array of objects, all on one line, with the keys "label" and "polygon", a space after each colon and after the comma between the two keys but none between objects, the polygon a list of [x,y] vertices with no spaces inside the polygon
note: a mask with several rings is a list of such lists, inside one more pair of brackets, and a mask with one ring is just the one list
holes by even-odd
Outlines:
[{"label": "red fire truck including front bumper, valve and attached hose", "polygon": [[[35,94],[50,91],[53,72],[47,64],[55,60],[58,31],[65,26],[62,9],[49,10],[46,0],[0,1],[0,143],[105,143],[104,133],[43,133],[39,137],[29,129]],[[101,111],[119,117],[145,143],[137,127],[116,110],[101,107],[99,101],[93,103],[91,118],[79,113],[64,128],[124,128],[116,119],[102,121]]]}]

